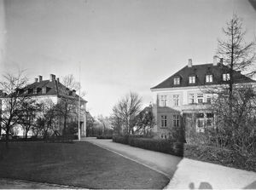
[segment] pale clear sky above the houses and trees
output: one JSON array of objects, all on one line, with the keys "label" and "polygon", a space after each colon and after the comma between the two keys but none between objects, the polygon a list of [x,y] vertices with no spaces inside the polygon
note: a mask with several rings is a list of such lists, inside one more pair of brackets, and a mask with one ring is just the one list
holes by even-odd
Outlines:
[{"label": "pale clear sky above the houses and trees", "polygon": [[[233,13],[256,37],[255,0],[0,0],[0,74],[26,70],[79,81],[93,116],[150,88],[188,62],[211,63]],[[2,77],[0,77],[1,79]]]}]

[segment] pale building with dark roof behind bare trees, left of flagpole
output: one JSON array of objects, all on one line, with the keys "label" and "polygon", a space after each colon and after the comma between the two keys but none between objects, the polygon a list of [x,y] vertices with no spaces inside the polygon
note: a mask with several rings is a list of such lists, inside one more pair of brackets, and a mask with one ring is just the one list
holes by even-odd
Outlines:
[{"label": "pale building with dark roof behind bare trees, left of flagpole", "polygon": [[[36,100],[38,103],[44,104],[57,104],[61,101],[61,99],[66,98],[73,100],[76,103],[76,110],[74,110],[69,117],[67,118],[67,122],[69,121],[79,121],[80,123],[80,135],[86,135],[86,103],[83,98],[80,98],[80,117],[78,117],[78,106],[79,106],[79,95],[76,94],[74,89],[67,89],[64,86],[59,78],[55,78],[54,74],[50,74],[49,79],[43,80],[42,76],[38,76],[35,78],[34,83],[27,85],[24,89],[19,89],[20,95],[26,95],[27,97],[31,97]],[[2,96],[0,96],[0,113],[1,110],[4,109],[4,99],[8,99],[8,96],[4,96],[3,92],[1,92]],[[2,102],[2,103],[1,103]],[[40,113],[39,113],[40,114]],[[59,129],[60,133],[63,128],[63,118],[60,117],[57,129]],[[25,131],[22,130],[20,125],[17,124],[13,129],[15,135],[24,135]],[[2,130],[2,134],[5,132]],[[28,135],[33,135],[32,131],[29,131]]]}]

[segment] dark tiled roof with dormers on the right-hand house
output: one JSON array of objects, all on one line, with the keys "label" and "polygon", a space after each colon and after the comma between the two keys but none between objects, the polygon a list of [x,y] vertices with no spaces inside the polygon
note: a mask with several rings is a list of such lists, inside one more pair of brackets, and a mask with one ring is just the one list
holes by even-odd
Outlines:
[{"label": "dark tiled roof with dormers on the right-hand house", "polygon": [[[151,89],[165,89],[176,87],[188,87],[188,86],[201,86],[211,84],[228,83],[223,81],[222,75],[228,73],[229,68],[223,64],[218,63],[218,66],[213,66],[212,63],[194,66],[184,66],[181,70],[173,74],[170,78],[167,78],[162,83],[154,86]],[[212,83],[206,82],[206,75],[212,74]],[[195,83],[189,83],[189,76],[195,76]],[[180,84],[174,84],[174,78],[180,78]],[[251,83],[255,82],[251,78],[247,78],[242,75],[241,72],[234,71],[234,83]]]}]

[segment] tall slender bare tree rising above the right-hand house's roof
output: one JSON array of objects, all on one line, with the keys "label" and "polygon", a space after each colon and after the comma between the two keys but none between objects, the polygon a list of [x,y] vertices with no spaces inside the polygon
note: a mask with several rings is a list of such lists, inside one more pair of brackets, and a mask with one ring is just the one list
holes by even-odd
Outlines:
[{"label": "tall slender bare tree rising above the right-hand house's roof", "polygon": [[232,112],[232,99],[234,89],[234,72],[247,72],[252,76],[255,72],[248,71],[252,69],[253,61],[256,58],[254,51],[255,41],[246,43],[244,38],[246,32],[242,30],[242,20],[236,14],[227,22],[223,28],[224,40],[218,39],[218,56],[223,59],[224,66],[229,68],[229,101],[230,114]]}]

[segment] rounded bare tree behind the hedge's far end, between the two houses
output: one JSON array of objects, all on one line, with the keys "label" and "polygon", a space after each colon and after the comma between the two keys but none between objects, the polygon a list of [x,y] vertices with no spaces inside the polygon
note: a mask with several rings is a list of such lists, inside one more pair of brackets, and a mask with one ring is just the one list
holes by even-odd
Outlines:
[{"label": "rounded bare tree behind the hedge's far end, between the two houses", "polygon": [[120,123],[125,129],[125,135],[134,134],[133,127],[136,124],[137,114],[141,111],[142,98],[137,93],[130,92],[125,95],[113,107],[113,119],[117,119],[116,123]]}]

